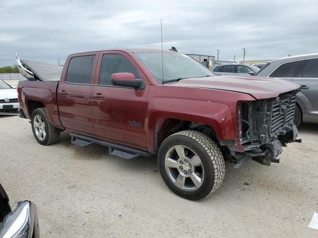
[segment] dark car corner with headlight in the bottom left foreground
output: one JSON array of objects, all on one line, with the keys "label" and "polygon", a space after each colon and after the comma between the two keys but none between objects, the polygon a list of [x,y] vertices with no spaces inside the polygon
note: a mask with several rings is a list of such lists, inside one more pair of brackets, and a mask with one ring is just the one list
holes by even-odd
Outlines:
[{"label": "dark car corner with headlight in the bottom left foreground", "polygon": [[0,238],[40,238],[38,215],[33,202],[22,201],[11,211],[9,198],[0,184]]}]

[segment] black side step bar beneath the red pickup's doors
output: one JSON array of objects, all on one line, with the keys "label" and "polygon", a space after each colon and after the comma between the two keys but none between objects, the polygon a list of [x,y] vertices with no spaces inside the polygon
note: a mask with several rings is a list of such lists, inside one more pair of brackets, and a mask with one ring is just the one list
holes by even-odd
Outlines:
[{"label": "black side step bar beneath the red pickup's doors", "polygon": [[73,132],[70,132],[70,135],[72,136],[72,144],[78,145],[80,147],[85,147],[92,143],[108,146],[110,155],[116,156],[118,158],[122,158],[125,160],[131,160],[139,156],[145,156],[145,157],[152,156],[151,153],[144,150],[139,150],[139,149],[135,149],[128,146],[119,145],[119,144],[115,144],[115,143],[104,141],[104,140],[99,140],[96,138],[76,134]]}]

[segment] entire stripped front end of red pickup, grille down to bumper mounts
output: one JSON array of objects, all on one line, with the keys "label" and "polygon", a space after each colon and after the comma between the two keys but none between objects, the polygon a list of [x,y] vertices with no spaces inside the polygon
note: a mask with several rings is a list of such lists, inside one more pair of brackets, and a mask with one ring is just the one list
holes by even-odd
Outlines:
[{"label": "entire stripped front end of red pickup, grille down to bumper mounts", "polygon": [[220,141],[227,146],[237,168],[244,159],[262,165],[279,163],[282,147],[296,139],[294,124],[296,94],[299,89],[282,93],[276,98],[239,102],[237,105],[236,140]]}]

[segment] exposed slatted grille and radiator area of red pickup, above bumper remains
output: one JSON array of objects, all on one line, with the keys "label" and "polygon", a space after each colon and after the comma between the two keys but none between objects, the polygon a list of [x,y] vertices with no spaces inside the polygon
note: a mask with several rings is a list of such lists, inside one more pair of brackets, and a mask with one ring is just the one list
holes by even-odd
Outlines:
[{"label": "exposed slatted grille and radiator area of red pickup, above bumper remains", "polygon": [[241,144],[257,148],[291,130],[298,92],[294,90],[280,94],[277,98],[242,102]]}]

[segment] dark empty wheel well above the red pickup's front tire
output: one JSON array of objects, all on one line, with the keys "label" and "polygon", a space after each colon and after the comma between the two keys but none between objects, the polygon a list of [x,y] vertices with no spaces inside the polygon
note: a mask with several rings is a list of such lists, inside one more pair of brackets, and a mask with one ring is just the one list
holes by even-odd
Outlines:
[{"label": "dark empty wheel well above the red pickup's front tire", "polygon": [[218,141],[214,129],[209,125],[189,120],[159,119],[155,128],[155,149],[158,151],[165,138],[182,130],[200,131],[212,138],[214,141]]}]

